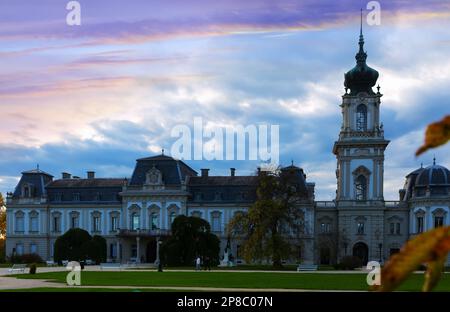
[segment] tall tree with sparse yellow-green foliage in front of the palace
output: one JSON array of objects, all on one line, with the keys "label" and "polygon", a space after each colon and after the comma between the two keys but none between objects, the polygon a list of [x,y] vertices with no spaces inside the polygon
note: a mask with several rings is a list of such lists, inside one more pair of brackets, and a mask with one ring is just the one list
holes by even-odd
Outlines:
[{"label": "tall tree with sparse yellow-green foliage in front of the palace", "polygon": [[281,267],[282,259],[295,253],[305,232],[300,204],[308,198],[299,174],[295,168],[261,172],[255,203],[230,220],[229,234],[242,239],[246,262],[268,258]]}]

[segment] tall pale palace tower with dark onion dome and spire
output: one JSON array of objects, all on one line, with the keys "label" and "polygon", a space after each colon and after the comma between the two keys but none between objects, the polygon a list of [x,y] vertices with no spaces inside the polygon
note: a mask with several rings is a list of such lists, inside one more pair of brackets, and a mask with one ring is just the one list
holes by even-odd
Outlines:
[{"label": "tall pale palace tower with dark onion dome and spire", "polygon": [[350,243],[351,248],[340,257],[353,254],[367,262],[383,242],[383,163],[389,141],[384,139],[380,123],[380,87],[376,92],[372,89],[378,72],[366,63],[362,15],[355,58],[355,67],[345,74],[342,126],[333,147],[337,160],[336,208],[339,240]]}]

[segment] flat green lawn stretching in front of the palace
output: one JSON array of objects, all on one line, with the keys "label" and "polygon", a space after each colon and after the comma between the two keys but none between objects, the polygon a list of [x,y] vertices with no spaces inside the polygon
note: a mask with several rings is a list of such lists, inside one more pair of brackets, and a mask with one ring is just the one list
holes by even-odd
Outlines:
[{"label": "flat green lawn stretching in front of the palace", "polygon": [[[16,275],[65,283],[67,272]],[[412,275],[399,290],[419,291],[423,274]],[[256,273],[256,272],[82,272],[84,286],[197,286],[222,288],[285,288],[324,290],[367,290],[365,274]],[[438,291],[450,291],[445,274]]]}]

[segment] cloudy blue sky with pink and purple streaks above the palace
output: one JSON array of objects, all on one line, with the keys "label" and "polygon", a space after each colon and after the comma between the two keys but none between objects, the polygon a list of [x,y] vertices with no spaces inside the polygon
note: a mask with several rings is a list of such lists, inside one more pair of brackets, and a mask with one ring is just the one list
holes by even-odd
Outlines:
[{"label": "cloudy blue sky with pink and purple streaks above the palace", "polygon": [[[280,162],[304,169],[316,199],[336,190],[332,146],[344,73],[355,65],[360,8],[369,66],[379,71],[390,140],[385,199],[450,145],[415,157],[426,125],[450,108],[450,2],[0,0],[0,192],[24,170],[59,178],[129,177],[176,125],[279,125]],[[210,174],[252,174],[259,161],[186,161]]]}]

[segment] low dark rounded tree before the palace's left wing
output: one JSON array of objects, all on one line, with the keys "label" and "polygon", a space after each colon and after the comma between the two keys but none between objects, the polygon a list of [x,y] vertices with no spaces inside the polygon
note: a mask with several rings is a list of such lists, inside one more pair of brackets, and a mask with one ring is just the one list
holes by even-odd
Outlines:
[{"label": "low dark rounded tree before the palace's left wing", "polygon": [[106,240],[98,235],[91,237],[82,229],[70,229],[55,241],[54,260],[84,261],[94,260],[96,263],[106,260]]}]

